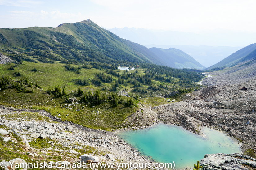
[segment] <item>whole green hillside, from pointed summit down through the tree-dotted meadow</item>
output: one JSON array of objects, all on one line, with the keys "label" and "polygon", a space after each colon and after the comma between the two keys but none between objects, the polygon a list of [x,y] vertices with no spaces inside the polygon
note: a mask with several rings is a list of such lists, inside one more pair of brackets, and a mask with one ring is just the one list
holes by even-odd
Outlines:
[{"label": "whole green hillside, from pointed summit down through the tree-dotted meadow", "polygon": [[[155,65],[150,50],[90,20],[0,33],[0,53],[17,61],[0,64],[0,105],[45,109],[86,127],[119,128],[140,101],[165,104],[161,96],[197,88],[203,78],[198,70]],[[73,97],[77,101],[71,103]]]}]

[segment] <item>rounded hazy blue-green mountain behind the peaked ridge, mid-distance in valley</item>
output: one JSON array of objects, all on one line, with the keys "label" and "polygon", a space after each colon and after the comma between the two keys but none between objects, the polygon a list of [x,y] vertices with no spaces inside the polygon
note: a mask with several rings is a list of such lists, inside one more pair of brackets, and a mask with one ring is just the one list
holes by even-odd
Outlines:
[{"label": "rounded hazy blue-green mountain behind the peaked ridge, mid-distance in valley", "polygon": [[205,67],[197,62],[193,57],[184,53],[179,49],[169,48],[150,48],[150,50],[155,53],[161,62],[165,63],[165,66],[175,67],[175,68],[194,68],[194,69],[204,69]]}]

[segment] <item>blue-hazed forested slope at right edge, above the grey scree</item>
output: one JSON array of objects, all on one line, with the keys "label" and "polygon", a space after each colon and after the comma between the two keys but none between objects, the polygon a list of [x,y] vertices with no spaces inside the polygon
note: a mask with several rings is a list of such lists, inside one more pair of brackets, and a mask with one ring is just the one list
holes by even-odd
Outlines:
[{"label": "blue-hazed forested slope at right edge, above the grey scree", "polygon": [[216,67],[230,67],[233,65],[237,65],[240,62],[250,60],[253,58],[253,54],[254,54],[254,53],[252,53],[252,54],[250,54],[250,53],[253,52],[255,49],[256,49],[256,43],[250,44],[250,45],[236,51],[236,53],[233,53],[232,55],[230,55],[227,58],[223,59],[222,61],[218,62],[217,64],[214,64],[213,66],[206,68],[205,70],[211,70]]}]

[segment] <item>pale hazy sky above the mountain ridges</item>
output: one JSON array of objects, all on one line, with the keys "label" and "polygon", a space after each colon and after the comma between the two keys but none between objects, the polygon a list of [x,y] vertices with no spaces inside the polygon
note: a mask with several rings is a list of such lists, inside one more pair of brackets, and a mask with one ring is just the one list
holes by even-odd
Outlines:
[{"label": "pale hazy sky above the mountain ridges", "polygon": [[255,0],[0,0],[0,27],[56,27],[87,18],[105,28],[256,32]]}]

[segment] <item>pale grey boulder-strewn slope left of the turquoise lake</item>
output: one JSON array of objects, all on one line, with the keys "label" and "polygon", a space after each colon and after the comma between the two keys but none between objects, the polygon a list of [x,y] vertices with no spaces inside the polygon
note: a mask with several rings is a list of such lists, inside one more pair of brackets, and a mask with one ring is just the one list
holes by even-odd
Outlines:
[{"label": "pale grey boulder-strewn slope left of the turquoise lake", "polygon": [[[149,112],[150,114],[149,110],[145,110],[145,113]],[[80,160],[82,160],[82,162],[87,163],[87,160],[83,160],[83,156],[85,157],[84,154],[87,154],[88,160],[93,162],[116,162],[115,160],[136,163],[150,162],[150,160],[138,155],[137,150],[128,146],[123,140],[119,140],[112,132],[93,130],[66,121],[52,123],[48,121],[38,121],[36,117],[27,119],[22,116],[22,112],[23,111],[19,109],[0,107],[0,125],[6,128],[6,130],[0,128],[0,132],[2,133],[0,134],[0,138],[3,138],[4,142],[14,142],[18,144],[22,149],[20,153],[28,155],[33,160],[38,158],[44,160],[44,158],[49,157],[49,154],[56,154],[57,151],[59,152],[58,156],[61,156],[63,159],[65,158],[65,161],[69,162],[80,162]],[[52,121],[56,121],[53,116],[45,111],[38,110],[37,112],[43,117],[49,116],[53,119]],[[13,119],[9,120],[12,114],[19,114],[20,117],[13,117]],[[33,113],[31,114],[34,116]],[[136,117],[136,115],[134,116]],[[11,134],[16,135],[11,137]],[[15,137],[21,140],[17,140]],[[50,144],[51,147],[47,145],[47,147],[44,148],[37,148],[30,143],[43,139],[47,140],[47,143]],[[91,148],[92,151],[87,152],[85,148]],[[102,153],[102,156],[97,155],[99,151]],[[67,154],[70,156],[66,157]],[[81,159],[77,158],[78,155],[82,155]],[[95,156],[95,159],[92,159],[92,156]]]}]

